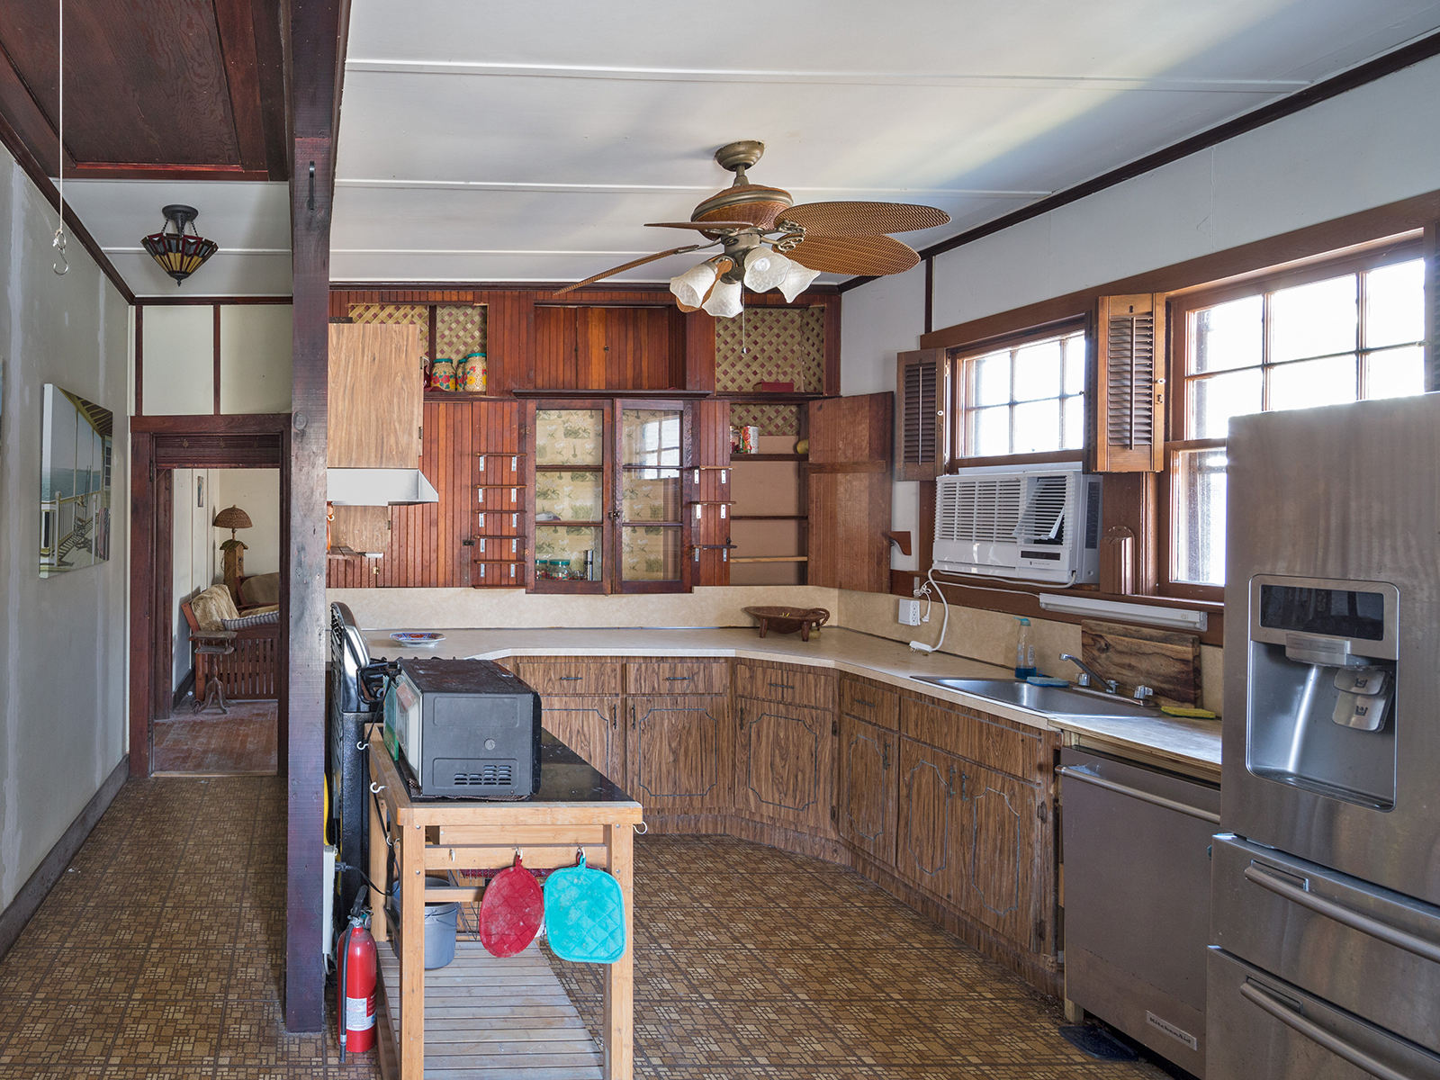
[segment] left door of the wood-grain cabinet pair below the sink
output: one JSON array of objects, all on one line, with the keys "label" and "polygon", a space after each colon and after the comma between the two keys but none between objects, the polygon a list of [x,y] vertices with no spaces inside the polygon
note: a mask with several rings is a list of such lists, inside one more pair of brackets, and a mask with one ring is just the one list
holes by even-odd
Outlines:
[{"label": "left door of the wood-grain cabinet pair below the sink", "polygon": [[955,900],[960,760],[901,737],[897,783],[896,868],[935,896]]}]

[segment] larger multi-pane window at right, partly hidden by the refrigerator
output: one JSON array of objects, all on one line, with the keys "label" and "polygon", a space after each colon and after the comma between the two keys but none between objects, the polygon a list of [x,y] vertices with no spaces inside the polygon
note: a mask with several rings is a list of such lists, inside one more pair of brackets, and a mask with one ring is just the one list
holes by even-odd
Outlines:
[{"label": "larger multi-pane window at right, partly hidden by the refrigerator", "polygon": [[1171,585],[1224,585],[1231,416],[1424,392],[1424,259],[1416,255],[1414,246],[1390,249],[1175,302]]}]

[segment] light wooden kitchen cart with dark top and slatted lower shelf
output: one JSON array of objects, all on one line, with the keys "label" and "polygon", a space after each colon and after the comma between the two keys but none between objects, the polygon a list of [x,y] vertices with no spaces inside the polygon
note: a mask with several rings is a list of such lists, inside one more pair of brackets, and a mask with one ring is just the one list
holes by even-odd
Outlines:
[{"label": "light wooden kitchen cart with dark top and slatted lower shelf", "polygon": [[[370,880],[384,883],[393,845],[399,914],[372,919],[380,972],[377,1045],[386,1080],[546,1077],[631,1080],[634,1074],[634,829],[641,805],[549,732],[540,791],[517,802],[413,796],[379,727],[370,736]],[[425,971],[425,904],[475,903],[481,888],[445,884],[465,870],[500,870],[523,851],[530,870],[608,870],[625,897],[625,955],[605,969],[603,1056],[536,946],[498,959],[461,942],[455,960]],[[370,893],[370,910],[386,912]],[[393,939],[387,942],[387,939]],[[426,991],[432,1002],[426,1008]],[[429,1060],[426,1060],[429,1057]]]}]

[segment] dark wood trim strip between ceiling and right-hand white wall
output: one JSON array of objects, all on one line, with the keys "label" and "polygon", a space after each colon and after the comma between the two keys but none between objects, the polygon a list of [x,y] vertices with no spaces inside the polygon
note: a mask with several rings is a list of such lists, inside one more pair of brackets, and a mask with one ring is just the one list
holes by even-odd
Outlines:
[{"label": "dark wood trim strip between ceiling and right-hand white wall", "polygon": [[[1408,45],[1403,45],[1384,56],[1377,56],[1374,60],[1356,65],[1349,71],[1344,71],[1329,79],[1316,82],[1302,91],[1296,91],[1280,101],[1272,101],[1257,109],[1251,109],[1240,117],[1227,120],[1224,124],[1217,124],[1215,127],[1207,128],[1205,131],[1191,135],[1189,138],[1184,138],[1179,143],[1174,143],[1172,145],[1136,158],[1135,161],[1120,166],[1119,168],[1112,168],[1109,173],[1102,173],[1092,180],[1086,180],[1074,187],[1067,187],[1064,192],[1057,192],[1045,199],[1022,206],[1018,210],[1011,210],[1009,213],[986,222],[985,225],[979,225],[956,236],[950,236],[946,240],[933,243],[929,248],[923,248],[920,251],[920,258],[929,259],[936,255],[943,255],[948,251],[955,251],[966,243],[973,243],[985,236],[1002,232],[1012,225],[1028,222],[1031,217],[1040,217],[1051,210],[1060,209],[1061,206],[1068,206],[1070,203],[1092,196],[1096,192],[1103,192],[1107,187],[1125,183],[1126,180],[1145,176],[1145,173],[1152,173],[1171,161],[1178,161],[1182,157],[1189,157],[1201,150],[1208,150],[1212,145],[1236,138],[1237,135],[1243,135],[1247,131],[1254,131],[1266,124],[1295,115],[1296,112],[1308,109],[1310,105],[1318,105],[1322,101],[1328,101],[1329,98],[1345,94],[1346,91],[1352,91],[1356,86],[1364,86],[1375,79],[1394,75],[1397,71],[1420,63],[1421,60],[1427,60],[1436,55],[1440,55],[1440,32],[1426,35],[1424,37],[1410,42]],[[870,281],[874,281],[874,278],[851,278],[850,281],[841,282],[840,289],[841,292],[848,292],[850,289],[858,288]],[[1115,294],[1142,291],[1162,292],[1165,289],[1112,289]]]}]

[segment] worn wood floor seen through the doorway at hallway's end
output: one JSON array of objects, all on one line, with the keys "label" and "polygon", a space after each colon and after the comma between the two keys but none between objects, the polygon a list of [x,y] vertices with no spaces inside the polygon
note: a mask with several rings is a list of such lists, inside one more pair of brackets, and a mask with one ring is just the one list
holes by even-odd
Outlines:
[{"label": "worn wood floor seen through the doorway at hallway's end", "polygon": [[186,697],[168,720],[154,721],[157,776],[274,776],[275,701],[230,701],[226,716],[213,704],[194,713]]}]

